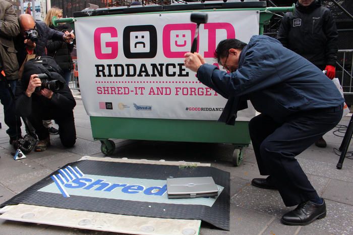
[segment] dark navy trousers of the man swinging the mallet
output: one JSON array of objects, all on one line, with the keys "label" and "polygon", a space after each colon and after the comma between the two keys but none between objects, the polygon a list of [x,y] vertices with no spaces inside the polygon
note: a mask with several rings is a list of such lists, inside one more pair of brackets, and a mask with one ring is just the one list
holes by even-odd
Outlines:
[{"label": "dark navy trousers of the man swinging the mallet", "polygon": [[337,125],[342,106],[300,111],[283,118],[283,122],[266,114],[250,121],[250,138],[260,174],[271,175],[286,206],[318,197],[295,157]]}]

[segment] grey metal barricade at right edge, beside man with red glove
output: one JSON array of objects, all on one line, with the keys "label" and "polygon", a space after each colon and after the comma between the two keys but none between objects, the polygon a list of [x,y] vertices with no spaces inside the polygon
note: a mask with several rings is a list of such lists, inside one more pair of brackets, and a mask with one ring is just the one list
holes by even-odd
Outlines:
[{"label": "grey metal barricade at right edge, beside man with red glove", "polygon": [[353,49],[338,50],[336,77],[340,80],[344,95],[353,95]]}]

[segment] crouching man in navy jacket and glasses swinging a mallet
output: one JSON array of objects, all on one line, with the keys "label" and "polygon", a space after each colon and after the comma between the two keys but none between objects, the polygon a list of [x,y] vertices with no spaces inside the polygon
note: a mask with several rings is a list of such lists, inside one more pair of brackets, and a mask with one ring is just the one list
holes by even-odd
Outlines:
[{"label": "crouching man in navy jacket and glasses swinging a mallet", "polygon": [[[223,40],[215,54],[231,73],[206,64],[198,53],[186,53],[185,65],[228,102],[250,99],[261,112],[250,121],[249,132],[260,174],[269,177],[253,179],[252,185],[278,189],[286,206],[298,205],[282,216],[285,224],[306,225],[325,217],[325,201],[295,157],[340,121],[343,98],[334,83],[268,36],[253,36],[248,45],[237,39]],[[233,115],[236,111],[223,112]]]}]

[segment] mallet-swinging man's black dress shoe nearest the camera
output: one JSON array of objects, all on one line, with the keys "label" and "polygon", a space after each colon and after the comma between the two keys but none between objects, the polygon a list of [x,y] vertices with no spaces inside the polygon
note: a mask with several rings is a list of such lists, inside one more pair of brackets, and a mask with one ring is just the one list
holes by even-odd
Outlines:
[{"label": "mallet-swinging man's black dress shoe nearest the camera", "polygon": [[[322,199],[323,200],[323,199]],[[302,202],[296,209],[289,211],[282,216],[282,223],[287,225],[307,225],[316,219],[322,219],[326,216],[325,201],[317,205],[311,201]]]}]

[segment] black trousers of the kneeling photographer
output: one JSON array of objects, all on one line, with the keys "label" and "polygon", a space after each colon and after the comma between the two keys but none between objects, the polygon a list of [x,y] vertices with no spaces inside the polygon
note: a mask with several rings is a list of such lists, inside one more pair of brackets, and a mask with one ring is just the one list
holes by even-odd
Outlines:
[{"label": "black trousers of the kneeling photographer", "polygon": [[65,147],[72,147],[75,145],[76,129],[73,110],[62,113],[54,107],[43,108],[32,103],[32,113],[27,118],[36,130],[39,140],[44,140],[49,137],[48,129],[43,126],[42,121],[54,120],[59,126],[59,135],[62,144]]}]

